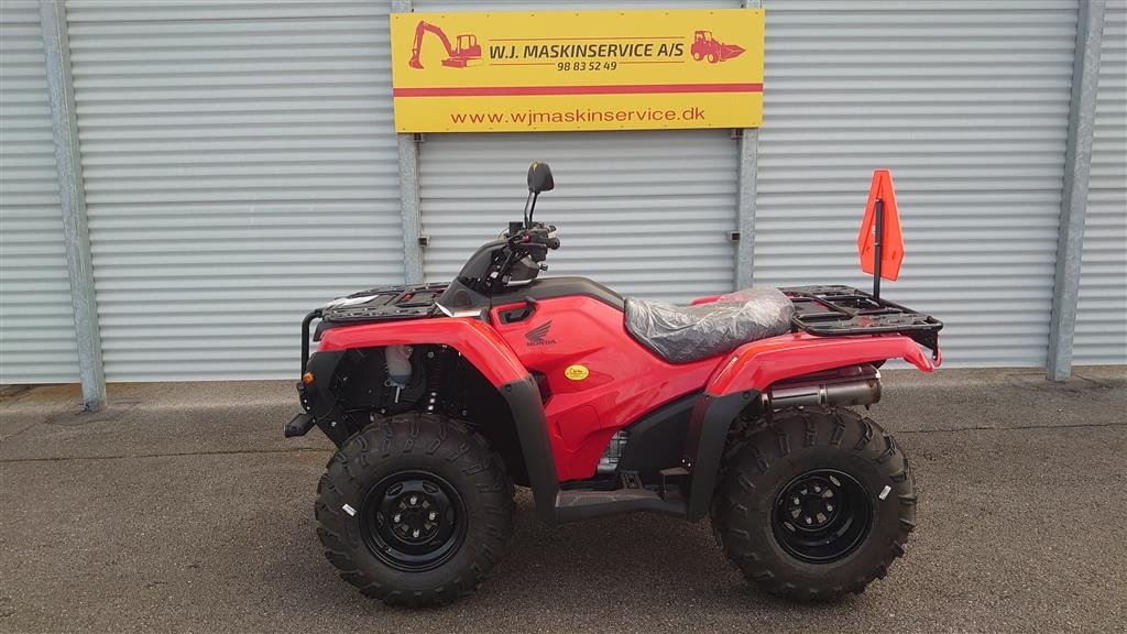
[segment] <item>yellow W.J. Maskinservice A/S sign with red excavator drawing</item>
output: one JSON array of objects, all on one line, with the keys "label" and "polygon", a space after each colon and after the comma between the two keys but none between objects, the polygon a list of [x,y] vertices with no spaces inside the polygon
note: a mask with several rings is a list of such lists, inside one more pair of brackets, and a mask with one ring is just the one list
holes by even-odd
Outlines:
[{"label": "yellow W.J. Maskinservice A/S sign with red excavator drawing", "polygon": [[399,132],[756,127],[763,9],[392,14]]}]

